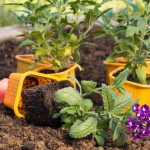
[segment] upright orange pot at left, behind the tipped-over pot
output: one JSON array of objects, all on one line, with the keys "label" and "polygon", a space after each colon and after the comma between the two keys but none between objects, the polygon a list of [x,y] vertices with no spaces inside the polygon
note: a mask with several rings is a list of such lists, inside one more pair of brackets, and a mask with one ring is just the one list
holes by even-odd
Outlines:
[{"label": "upright orange pot at left, behind the tipped-over pot", "polygon": [[30,68],[30,65],[34,62],[34,55],[16,55],[17,60],[17,72],[25,73],[27,71],[32,71],[39,67],[52,67],[52,64],[48,64],[46,62],[37,63],[35,67]]}]

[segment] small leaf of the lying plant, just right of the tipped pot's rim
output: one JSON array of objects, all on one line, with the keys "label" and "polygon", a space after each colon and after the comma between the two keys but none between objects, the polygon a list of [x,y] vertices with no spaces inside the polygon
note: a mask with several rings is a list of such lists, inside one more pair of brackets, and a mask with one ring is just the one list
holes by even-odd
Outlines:
[{"label": "small leaf of the lying plant, just right of the tipped pot's rim", "polygon": [[83,80],[81,82],[81,86],[82,86],[85,93],[92,93],[95,90],[97,83],[94,81]]}]

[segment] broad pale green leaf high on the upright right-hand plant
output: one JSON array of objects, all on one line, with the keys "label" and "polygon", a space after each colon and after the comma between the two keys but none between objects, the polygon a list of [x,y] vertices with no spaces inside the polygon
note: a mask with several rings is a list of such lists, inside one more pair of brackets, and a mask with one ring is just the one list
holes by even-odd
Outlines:
[{"label": "broad pale green leaf high on the upright right-hand plant", "polygon": [[134,34],[138,34],[139,31],[140,31],[140,29],[138,27],[128,26],[128,28],[126,30],[126,36],[132,37]]}]

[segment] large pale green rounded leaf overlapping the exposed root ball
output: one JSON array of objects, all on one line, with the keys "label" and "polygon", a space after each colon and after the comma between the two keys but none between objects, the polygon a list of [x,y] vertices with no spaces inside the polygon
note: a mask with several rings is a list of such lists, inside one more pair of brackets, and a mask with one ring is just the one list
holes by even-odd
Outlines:
[{"label": "large pale green rounded leaf overlapping the exposed root ball", "polygon": [[70,106],[80,106],[82,104],[82,97],[77,90],[72,87],[67,87],[55,93],[55,101],[57,103],[67,103]]}]

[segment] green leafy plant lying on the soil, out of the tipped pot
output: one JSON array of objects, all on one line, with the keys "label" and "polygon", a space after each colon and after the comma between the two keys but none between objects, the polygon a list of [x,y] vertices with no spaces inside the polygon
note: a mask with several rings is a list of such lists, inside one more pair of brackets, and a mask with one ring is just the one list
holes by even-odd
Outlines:
[{"label": "green leafy plant lying on the soil, out of the tipped pot", "polygon": [[[102,84],[97,87],[94,81],[82,81],[75,79],[79,86],[79,91],[72,87],[60,89],[55,93],[55,101],[64,105],[59,113],[54,114],[53,118],[61,116],[63,128],[69,130],[72,138],[83,138],[92,135],[99,145],[110,139],[119,145],[125,141],[124,124],[132,105],[132,96],[125,92],[121,85],[126,80],[129,70],[124,70],[110,86]],[[114,88],[121,91],[118,96]],[[84,92],[83,92],[84,91]],[[98,93],[102,96],[104,107],[93,107],[87,95]]]}]

